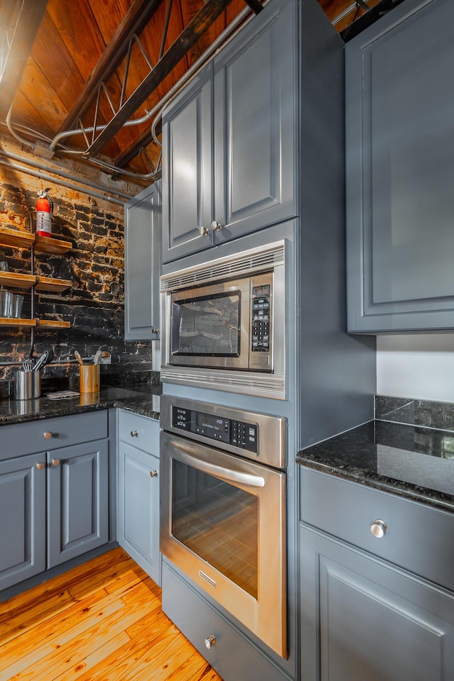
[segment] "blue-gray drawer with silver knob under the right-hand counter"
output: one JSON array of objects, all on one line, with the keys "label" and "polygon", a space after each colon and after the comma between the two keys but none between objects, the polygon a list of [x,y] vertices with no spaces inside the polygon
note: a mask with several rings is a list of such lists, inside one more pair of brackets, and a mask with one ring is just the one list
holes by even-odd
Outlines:
[{"label": "blue-gray drawer with silver knob under the right-hand counter", "polygon": [[[454,589],[454,514],[301,466],[300,519]],[[382,538],[371,525],[386,524]]]}]

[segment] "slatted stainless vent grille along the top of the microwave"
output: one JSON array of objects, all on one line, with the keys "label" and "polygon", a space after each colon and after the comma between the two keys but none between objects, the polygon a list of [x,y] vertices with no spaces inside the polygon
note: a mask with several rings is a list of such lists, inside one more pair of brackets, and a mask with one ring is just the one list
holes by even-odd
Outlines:
[{"label": "slatted stainless vent grille along the top of the microwave", "polygon": [[284,264],[284,243],[279,242],[273,246],[266,250],[245,253],[240,257],[235,256],[234,259],[216,260],[204,263],[200,267],[175,272],[173,275],[165,275],[161,279],[161,290],[175,291],[175,289],[186,289],[208,282],[231,279],[238,275],[249,276],[252,272],[272,270],[277,265]]}]

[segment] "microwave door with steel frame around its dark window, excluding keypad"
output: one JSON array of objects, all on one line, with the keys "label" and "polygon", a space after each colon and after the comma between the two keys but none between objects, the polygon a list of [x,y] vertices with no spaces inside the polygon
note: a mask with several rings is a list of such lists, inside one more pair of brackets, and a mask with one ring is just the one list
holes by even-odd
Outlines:
[{"label": "microwave door with steel frame around its dark window, excluding keypad", "polygon": [[248,368],[250,280],[172,294],[170,363]]}]

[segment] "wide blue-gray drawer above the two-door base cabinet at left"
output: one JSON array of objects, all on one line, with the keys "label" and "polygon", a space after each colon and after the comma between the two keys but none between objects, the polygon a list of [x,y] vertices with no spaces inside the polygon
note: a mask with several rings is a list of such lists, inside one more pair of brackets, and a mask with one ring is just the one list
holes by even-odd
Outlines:
[{"label": "wide blue-gray drawer above the two-door base cabinet at left", "polygon": [[[46,437],[45,433],[51,433]],[[1,428],[1,459],[45,452],[108,437],[107,411],[58,416]]]}]

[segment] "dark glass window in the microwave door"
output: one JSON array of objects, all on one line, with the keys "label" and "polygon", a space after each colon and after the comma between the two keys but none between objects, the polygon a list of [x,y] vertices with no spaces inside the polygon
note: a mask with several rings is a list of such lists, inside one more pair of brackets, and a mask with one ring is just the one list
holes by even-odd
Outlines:
[{"label": "dark glass window in the microwave door", "polygon": [[239,357],[241,292],[172,303],[172,355]]}]

